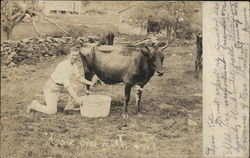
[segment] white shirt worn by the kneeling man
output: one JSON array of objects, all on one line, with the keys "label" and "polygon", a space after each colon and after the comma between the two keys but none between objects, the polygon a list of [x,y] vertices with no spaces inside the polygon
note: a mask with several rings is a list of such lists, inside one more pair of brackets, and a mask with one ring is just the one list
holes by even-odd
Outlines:
[{"label": "white shirt worn by the kneeling man", "polygon": [[71,86],[71,77],[80,77],[80,73],[76,64],[72,64],[69,59],[62,61],[58,64],[54,72],[50,75],[51,79],[58,84],[62,84],[65,87]]}]

